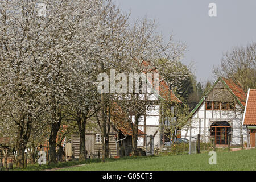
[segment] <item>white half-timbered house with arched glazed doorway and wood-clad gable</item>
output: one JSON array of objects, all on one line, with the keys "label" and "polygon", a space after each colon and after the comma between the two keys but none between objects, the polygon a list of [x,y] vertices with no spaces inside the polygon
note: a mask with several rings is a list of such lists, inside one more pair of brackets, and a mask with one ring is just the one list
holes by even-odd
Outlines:
[{"label": "white half-timbered house with arched glazed doorway and wood-clad gable", "polygon": [[233,81],[218,78],[189,114],[191,124],[181,131],[181,138],[196,137],[201,142],[215,140],[216,144],[240,145],[247,140],[247,129],[242,125],[246,94]]}]

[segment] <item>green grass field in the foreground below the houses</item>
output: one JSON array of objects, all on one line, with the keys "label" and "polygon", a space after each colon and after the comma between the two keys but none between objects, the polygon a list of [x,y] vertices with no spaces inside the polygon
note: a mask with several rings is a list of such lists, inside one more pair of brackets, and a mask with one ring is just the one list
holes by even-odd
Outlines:
[{"label": "green grass field in the foreground below the houses", "polygon": [[129,171],[129,170],[256,170],[256,149],[217,152],[217,164],[209,164],[208,153],[192,155],[155,156],[116,160],[105,163],[91,163],[61,170],[76,171]]}]

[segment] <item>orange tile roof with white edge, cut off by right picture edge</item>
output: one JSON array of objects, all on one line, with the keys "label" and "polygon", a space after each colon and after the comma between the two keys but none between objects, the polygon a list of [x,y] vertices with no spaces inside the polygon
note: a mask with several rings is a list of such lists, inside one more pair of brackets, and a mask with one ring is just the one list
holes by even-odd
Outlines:
[{"label": "orange tile roof with white edge, cut off by right picture edge", "polygon": [[256,89],[249,89],[248,91],[243,125],[256,125]]}]

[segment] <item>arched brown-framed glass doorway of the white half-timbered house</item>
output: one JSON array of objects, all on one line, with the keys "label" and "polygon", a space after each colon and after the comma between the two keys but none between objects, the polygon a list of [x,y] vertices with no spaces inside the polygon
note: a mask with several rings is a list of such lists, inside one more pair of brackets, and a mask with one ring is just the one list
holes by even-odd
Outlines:
[{"label": "arched brown-framed glass doorway of the white half-timbered house", "polygon": [[210,136],[215,138],[215,144],[228,144],[231,126],[226,121],[216,121],[210,125]]}]

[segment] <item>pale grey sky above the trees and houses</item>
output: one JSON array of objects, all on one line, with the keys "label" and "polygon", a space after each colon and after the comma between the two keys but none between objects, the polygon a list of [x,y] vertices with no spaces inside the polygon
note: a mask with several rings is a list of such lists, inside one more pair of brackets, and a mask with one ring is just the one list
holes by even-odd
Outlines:
[{"label": "pale grey sky above the trees and houses", "polygon": [[[222,53],[256,41],[256,0],[117,0],[119,7],[131,11],[130,18],[156,19],[158,31],[168,39],[188,45],[182,60],[194,62],[197,81],[213,80],[213,65]],[[209,3],[216,3],[217,17],[208,15]]]}]

